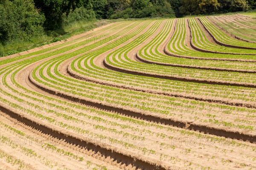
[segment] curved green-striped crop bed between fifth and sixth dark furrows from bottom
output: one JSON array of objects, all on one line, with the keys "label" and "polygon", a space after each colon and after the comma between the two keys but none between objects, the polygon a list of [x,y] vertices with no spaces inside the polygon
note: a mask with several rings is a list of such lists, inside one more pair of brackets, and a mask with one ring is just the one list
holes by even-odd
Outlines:
[{"label": "curved green-striped crop bed between fifth and sixth dark furrows from bottom", "polygon": [[[167,24],[167,23],[166,23]],[[172,36],[171,34],[171,23],[165,26],[159,34],[157,34],[154,39],[151,40],[148,44],[140,48],[140,51],[137,52],[136,58],[139,61],[157,64],[157,65],[165,65],[165,66],[174,66],[174,67],[181,67],[181,68],[198,68],[204,70],[215,70],[215,71],[236,71],[236,72],[248,72],[253,73],[255,72],[254,63],[248,62],[233,62],[233,61],[219,61],[219,60],[203,60],[200,61],[198,59],[187,59],[187,58],[178,58],[173,56],[168,56],[163,54],[163,48],[168,41],[167,36]],[[173,33],[180,37],[177,34],[177,31],[182,29],[176,29]],[[176,42],[177,39],[173,40],[173,43]],[[185,41],[183,41],[184,45]],[[178,45],[178,43],[177,43]],[[183,48],[184,49],[184,48]],[[187,50],[190,50],[187,48]],[[192,51],[192,50],[191,50]],[[175,53],[172,51],[173,54]],[[198,53],[192,51],[194,55]],[[188,51],[184,51],[184,54],[188,54]]]}]

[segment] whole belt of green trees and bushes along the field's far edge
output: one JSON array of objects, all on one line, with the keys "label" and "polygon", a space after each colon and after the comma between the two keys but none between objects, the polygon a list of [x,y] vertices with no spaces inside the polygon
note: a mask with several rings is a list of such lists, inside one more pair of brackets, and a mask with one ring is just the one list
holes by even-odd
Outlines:
[{"label": "whole belt of green trees and bushes along the field's far edge", "polygon": [[182,17],[255,8],[255,0],[0,0],[0,42],[31,41],[81,20]]}]

